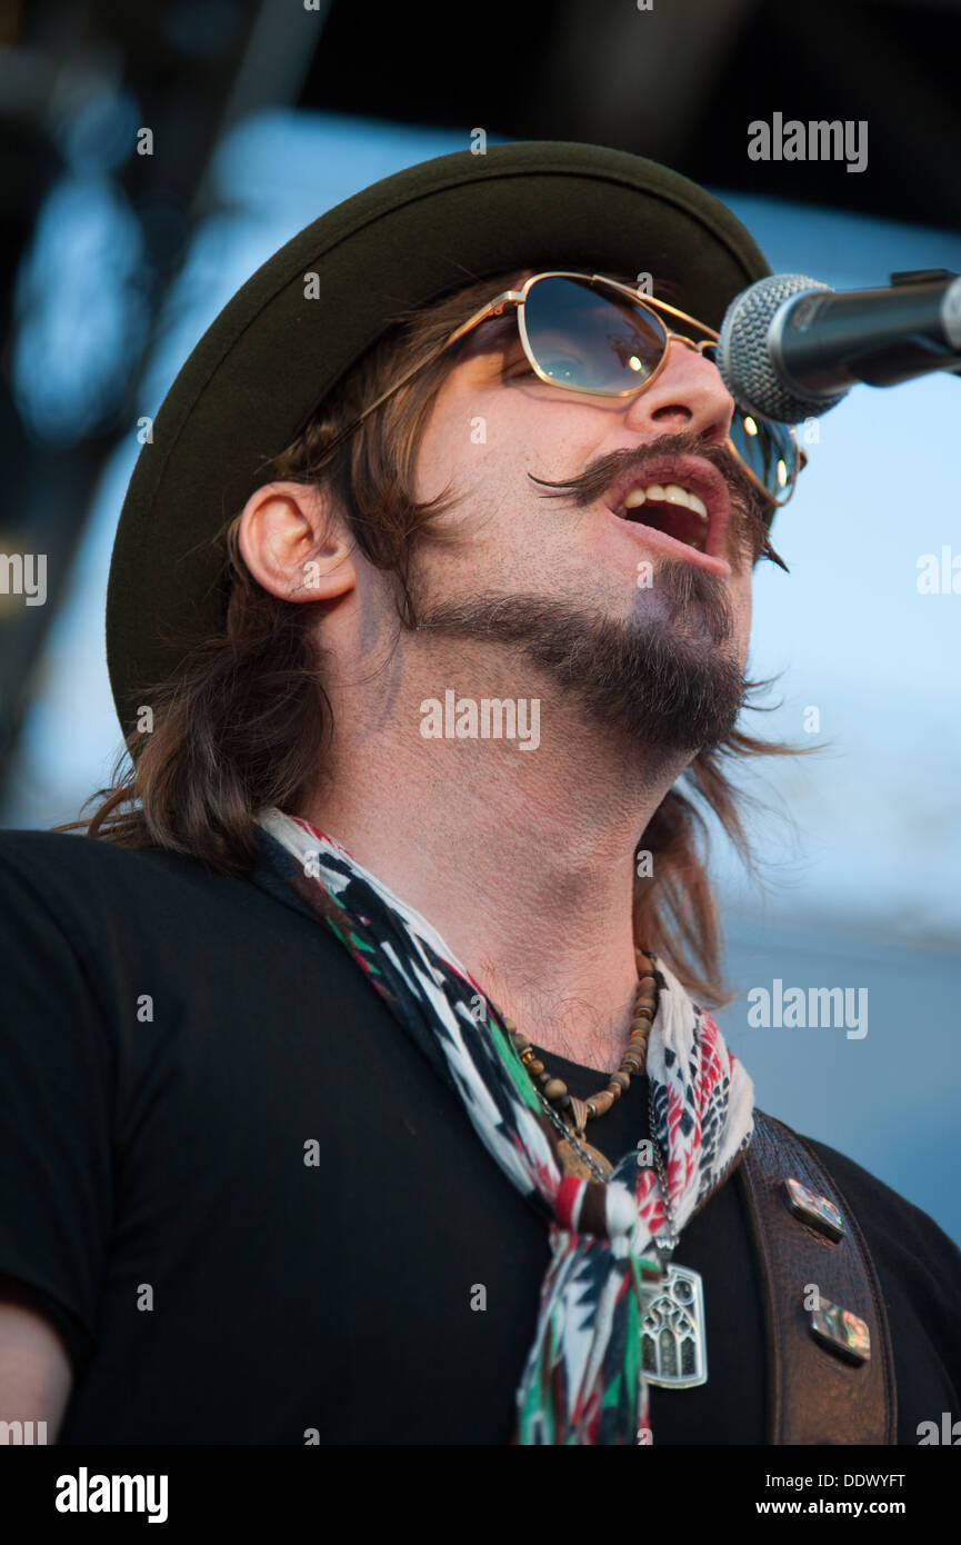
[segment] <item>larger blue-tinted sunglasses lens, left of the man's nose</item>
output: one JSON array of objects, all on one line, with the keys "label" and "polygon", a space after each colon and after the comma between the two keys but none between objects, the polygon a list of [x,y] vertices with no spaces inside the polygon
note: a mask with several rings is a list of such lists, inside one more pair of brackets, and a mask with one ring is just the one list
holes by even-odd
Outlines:
[{"label": "larger blue-tinted sunglasses lens, left of the man's nose", "polygon": [[578,280],[531,284],[524,324],[544,375],[579,391],[618,394],[643,386],[667,343],[657,317]]}]

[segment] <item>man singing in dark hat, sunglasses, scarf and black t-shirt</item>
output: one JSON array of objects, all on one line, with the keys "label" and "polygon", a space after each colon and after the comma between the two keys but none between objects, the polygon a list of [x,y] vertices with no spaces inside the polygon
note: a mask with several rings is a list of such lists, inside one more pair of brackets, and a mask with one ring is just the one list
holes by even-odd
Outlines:
[{"label": "man singing in dark hat, sunglasses, scarf and black t-shirt", "polygon": [[961,1255],[757,1111],[705,1007],[701,811],[746,853],[728,771],[791,751],[739,715],[803,457],[714,363],[766,272],[674,171],[499,145],[331,210],[201,340],[114,545],[130,766],[83,836],[0,844],[0,1417],[884,1445],[959,1409]]}]

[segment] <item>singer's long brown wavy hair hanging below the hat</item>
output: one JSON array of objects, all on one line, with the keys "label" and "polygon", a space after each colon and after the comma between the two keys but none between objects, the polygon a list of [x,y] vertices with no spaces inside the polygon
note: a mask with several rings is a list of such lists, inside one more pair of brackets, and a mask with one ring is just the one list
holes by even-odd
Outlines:
[{"label": "singer's long brown wavy hair hanging below the hat", "polygon": [[[428,530],[439,535],[434,522],[453,504],[443,496],[416,502],[417,448],[460,346],[422,369],[323,467],[318,464],[340,430],[392,380],[491,295],[516,283],[516,272],[485,278],[430,307],[400,314],[294,443],[264,464],[264,482],[292,480],[332,493],[362,552],[394,576],[406,626],[416,621],[409,573],[417,541]],[[221,873],[244,874],[256,856],[255,813],[264,805],[292,813],[303,808],[323,771],[332,732],[315,613],[309,604],[278,599],[253,579],[238,550],[238,527],[239,513],[224,531],[230,579],[226,633],[192,647],[176,678],[145,691],[153,728],[128,735],[110,786],[91,796],[99,800],[93,816],[56,830],[82,827],[87,836],[119,847],[188,853]],[[746,683],[746,706],[756,708],[746,698],[768,684]],[[640,833],[638,848],[652,854],[652,876],[635,882],[635,938],[663,955],[684,986],[711,1006],[731,1001],[731,995],[720,975],[720,919],[700,806],[714,811],[757,878],[742,819],[743,805],[756,800],[735,788],[725,765],[813,749],[819,748],[765,742],[734,729],[718,748],[694,759]]]}]

